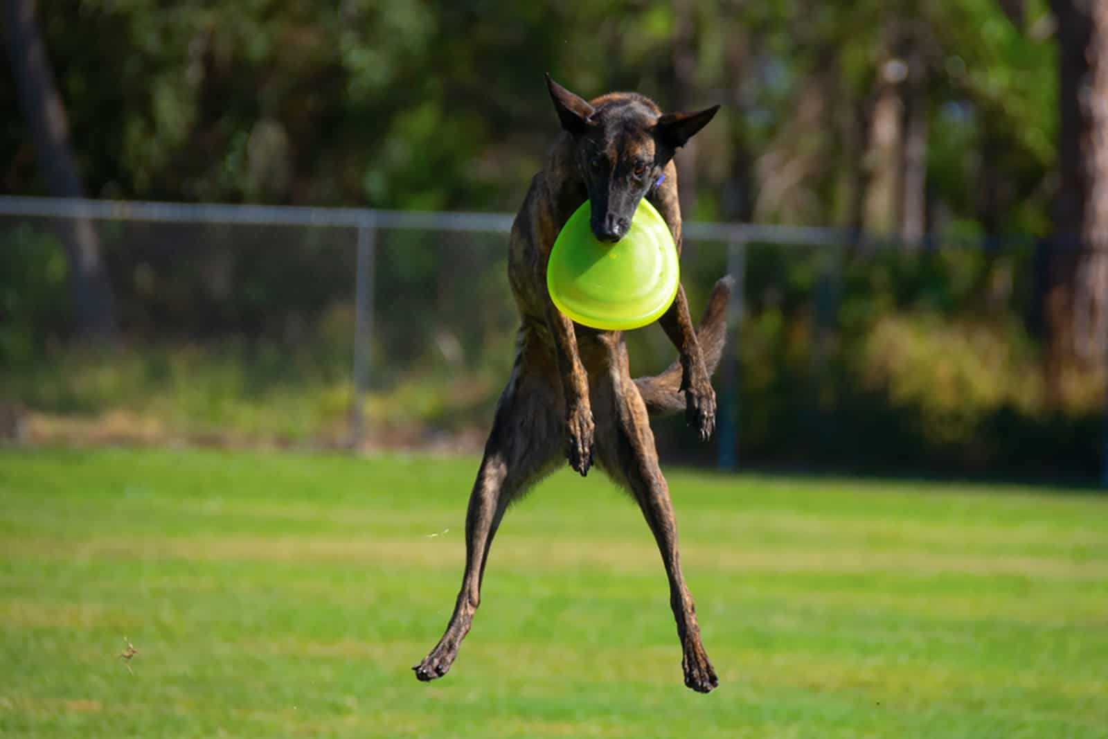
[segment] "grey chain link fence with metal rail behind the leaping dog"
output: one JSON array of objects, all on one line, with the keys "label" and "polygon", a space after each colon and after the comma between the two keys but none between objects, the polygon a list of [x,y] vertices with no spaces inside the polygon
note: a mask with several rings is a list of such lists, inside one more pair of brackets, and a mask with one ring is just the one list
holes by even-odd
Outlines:
[{"label": "grey chain link fence with metal rail behind the leaping dog", "polygon": [[[123,348],[109,357],[66,349],[71,316],[59,244],[60,226],[73,219],[92,224],[112,286]],[[0,304],[6,392],[61,425],[122,409],[119,422],[153,427],[152,439],[185,429],[194,439],[223,442],[260,437],[479,449],[513,356],[511,220],[504,214],[0,197],[0,264],[9,270],[0,285],[8,296]],[[683,283],[694,311],[724,274],[736,278],[737,289],[716,380],[716,439],[700,445],[681,419],[661,421],[656,434],[664,454],[733,469],[748,450],[759,461],[789,465],[864,466],[869,453],[894,470],[913,470],[947,462],[973,468],[974,455],[983,460],[978,466],[994,460],[1003,466],[1019,461],[1019,447],[1038,445],[1044,459],[1064,452],[1065,464],[1085,465],[1075,474],[1099,458],[1099,441],[1090,442],[1101,438],[1099,398],[1095,413],[1042,423],[1034,413],[1020,415],[1020,394],[1034,393],[1013,388],[971,423],[960,415],[957,398],[934,417],[910,408],[960,392],[940,376],[930,378],[927,368],[910,378],[909,386],[923,387],[901,408],[900,380],[868,376],[885,365],[902,371],[897,362],[911,362],[913,352],[926,358],[926,346],[912,345],[914,329],[890,318],[905,289],[914,290],[913,300],[937,305],[932,312],[942,324],[950,308],[944,299],[971,311],[987,302],[979,286],[958,283],[963,273],[989,285],[1007,280],[994,286],[1003,304],[994,322],[1010,324],[1013,306],[1028,301],[1032,245],[932,245],[920,253],[968,256],[903,261],[881,250],[859,257],[856,239],[834,229],[689,223],[684,233]],[[1008,261],[996,260],[1002,253]],[[946,315],[955,316],[952,310]],[[885,337],[878,349],[873,336]],[[628,342],[636,374],[658,371],[676,356],[657,327],[629,332]],[[1002,339],[996,352],[1007,357],[1015,343]],[[870,357],[874,352],[880,356]],[[862,359],[870,365],[861,367]],[[20,371],[21,362],[38,367]],[[998,438],[1023,434],[1022,441],[1012,449],[979,445],[971,437],[982,428]],[[921,438],[930,452],[921,451]]]}]

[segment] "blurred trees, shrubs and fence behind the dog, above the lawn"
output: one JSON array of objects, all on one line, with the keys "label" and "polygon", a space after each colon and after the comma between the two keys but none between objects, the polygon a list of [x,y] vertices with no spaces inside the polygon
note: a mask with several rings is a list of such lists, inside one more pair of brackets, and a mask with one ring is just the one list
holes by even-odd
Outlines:
[{"label": "blurred trees, shrubs and fence behind the dog, above the lawn", "polygon": [[678,165],[694,310],[741,277],[727,414],[659,423],[665,456],[1100,476],[1102,3],[34,6],[3,6],[4,437],[480,449],[548,71],[724,106]]}]

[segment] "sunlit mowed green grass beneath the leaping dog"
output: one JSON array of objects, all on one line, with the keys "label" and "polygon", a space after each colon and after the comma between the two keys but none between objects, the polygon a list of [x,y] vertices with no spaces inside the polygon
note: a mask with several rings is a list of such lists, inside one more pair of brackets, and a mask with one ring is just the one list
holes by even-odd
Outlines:
[{"label": "sunlit mowed green grass beneath the leaping dog", "polygon": [[1108,736],[1108,497],[1065,491],[673,471],[701,696],[637,510],[562,472],[419,684],[475,468],[0,452],[0,733]]}]

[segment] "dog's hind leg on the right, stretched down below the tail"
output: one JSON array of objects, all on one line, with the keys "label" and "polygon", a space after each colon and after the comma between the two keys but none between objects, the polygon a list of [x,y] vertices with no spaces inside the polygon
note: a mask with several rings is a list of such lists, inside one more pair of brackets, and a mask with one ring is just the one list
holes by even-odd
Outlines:
[{"label": "dog's hind leg on the right, stretched down below the tail", "polygon": [[[624,361],[626,362],[626,358]],[[622,372],[618,367],[614,368],[613,374],[615,377],[609,384],[611,404],[604,401],[594,401],[593,404],[598,417],[597,458],[601,468],[634,495],[658,544],[669,578],[669,604],[677,620],[677,635],[681,640],[685,685],[698,692],[709,692],[719,682],[700,643],[696,608],[681,573],[677,551],[677,520],[669,499],[669,486],[658,465],[646,404],[635,382],[627,376],[626,363]],[[601,407],[604,406],[607,408],[602,411]],[[609,412],[614,417],[611,424],[604,422],[608,420],[604,417]]]}]

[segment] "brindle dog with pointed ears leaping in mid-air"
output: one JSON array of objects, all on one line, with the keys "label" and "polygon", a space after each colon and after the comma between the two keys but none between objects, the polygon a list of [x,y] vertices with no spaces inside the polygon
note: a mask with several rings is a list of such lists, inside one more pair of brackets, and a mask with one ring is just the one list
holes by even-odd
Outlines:
[{"label": "brindle dog with pointed ears leaping in mid-air", "polygon": [[595,452],[599,468],[634,495],[657,540],[684,649],[685,685],[708,692],[718,682],[681,575],[674,507],[647,414],[685,409],[700,439],[711,434],[716,393],[710,376],[722,350],[730,280],[717,283],[699,335],[685,289],[678,289],[659,322],[679,359],[659,376],[633,380],[619,331],[575,325],[551,302],[546,261],[563,224],[586,198],[598,239],[619,240],[646,197],[680,250],[674,153],[719,106],[663,114],[639,94],[611,93],[585,102],[550,76],[546,83],[563,132],[512,226],[509,279],[522,319],[515,366],[470,496],[465,574],[454,614],[442,639],[413,669],[420,680],[450,669],[480,603],[489,547],[509,504],[554,470],[562,453],[584,475]]}]

